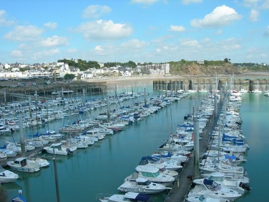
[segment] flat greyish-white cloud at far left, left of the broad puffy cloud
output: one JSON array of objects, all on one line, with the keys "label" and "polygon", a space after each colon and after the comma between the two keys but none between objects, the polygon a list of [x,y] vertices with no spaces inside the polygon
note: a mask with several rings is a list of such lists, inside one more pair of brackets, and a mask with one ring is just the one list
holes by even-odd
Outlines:
[{"label": "flat greyish-white cloud at far left, left of the broad puffy cloud", "polygon": [[12,41],[35,41],[44,30],[33,25],[15,26],[13,31],[9,31],[3,36],[4,39]]}]

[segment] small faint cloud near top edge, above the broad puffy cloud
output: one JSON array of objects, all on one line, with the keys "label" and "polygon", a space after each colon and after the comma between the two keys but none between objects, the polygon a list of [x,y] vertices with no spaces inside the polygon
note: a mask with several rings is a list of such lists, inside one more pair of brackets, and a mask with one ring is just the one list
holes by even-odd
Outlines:
[{"label": "small faint cloud near top edge, above the broad puffy cloud", "polygon": [[106,5],[89,5],[83,11],[84,18],[98,18],[101,15],[111,12],[111,8]]}]

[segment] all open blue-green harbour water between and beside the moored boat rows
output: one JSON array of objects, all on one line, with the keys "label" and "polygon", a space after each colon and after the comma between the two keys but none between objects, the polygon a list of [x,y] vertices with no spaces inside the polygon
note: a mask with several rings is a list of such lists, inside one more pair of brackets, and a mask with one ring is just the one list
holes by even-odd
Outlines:
[{"label": "all open blue-green harbour water between and beside the moored boat rows", "polygon": [[[189,112],[190,106],[198,102],[199,99],[189,96],[172,104],[173,125],[179,124],[183,120],[183,115]],[[97,202],[95,199],[97,194],[118,193],[117,187],[134,172],[140,158],[154,153],[157,146],[167,138],[168,126],[171,127],[167,122],[167,113],[170,114],[170,107],[126,127],[120,133],[107,135],[104,140],[95,143],[88,149],[77,150],[72,156],[57,156],[61,202]],[[241,113],[243,133],[247,137],[250,147],[244,167],[250,177],[252,190],[237,201],[252,202],[269,197],[266,191],[267,186],[263,182],[263,180],[269,179],[265,166],[268,164],[266,149],[269,143],[267,137],[269,98],[261,94],[245,94]],[[91,112],[90,115],[94,114],[96,112]],[[170,120],[170,118],[168,119]],[[62,121],[57,120],[50,124],[50,130],[58,131],[62,124]],[[1,137],[1,144],[4,139],[9,138]],[[22,189],[23,196],[28,202],[56,201],[53,165],[52,161],[49,162],[50,166],[43,168],[41,172],[19,173],[20,179],[16,183],[4,184],[9,197],[16,196],[18,189]],[[163,202],[166,194],[163,192],[153,195],[154,202]]]}]

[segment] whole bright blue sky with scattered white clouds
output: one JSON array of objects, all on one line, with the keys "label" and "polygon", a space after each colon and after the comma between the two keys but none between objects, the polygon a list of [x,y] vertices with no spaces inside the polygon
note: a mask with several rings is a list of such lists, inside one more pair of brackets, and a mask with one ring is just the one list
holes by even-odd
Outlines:
[{"label": "whole bright blue sky with scattered white clouds", "polygon": [[10,0],[0,62],[269,63],[269,0]]}]

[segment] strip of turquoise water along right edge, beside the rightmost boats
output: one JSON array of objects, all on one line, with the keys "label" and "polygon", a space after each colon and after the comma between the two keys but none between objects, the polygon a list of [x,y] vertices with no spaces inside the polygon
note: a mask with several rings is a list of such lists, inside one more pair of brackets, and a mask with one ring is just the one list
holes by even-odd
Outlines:
[{"label": "strip of turquoise water along right edge, beside the rightmost boats", "polygon": [[269,97],[263,93],[243,96],[241,113],[242,130],[250,147],[244,168],[250,178],[252,190],[238,202],[266,202],[269,199]]}]

